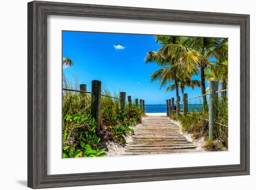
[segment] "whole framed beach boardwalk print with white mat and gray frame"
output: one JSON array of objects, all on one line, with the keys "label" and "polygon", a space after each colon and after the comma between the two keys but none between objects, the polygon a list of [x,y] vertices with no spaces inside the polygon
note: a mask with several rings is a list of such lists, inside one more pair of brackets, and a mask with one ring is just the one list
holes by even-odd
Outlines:
[{"label": "whole framed beach boardwalk print with white mat and gray frame", "polygon": [[28,187],[249,175],[249,15],[28,3]]}]

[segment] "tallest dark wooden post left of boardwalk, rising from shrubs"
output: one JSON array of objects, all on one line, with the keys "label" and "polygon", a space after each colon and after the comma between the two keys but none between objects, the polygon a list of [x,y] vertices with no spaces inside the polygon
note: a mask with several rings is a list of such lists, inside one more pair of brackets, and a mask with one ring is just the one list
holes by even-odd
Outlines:
[{"label": "tallest dark wooden post left of boardwalk, rising from shrubs", "polygon": [[101,124],[101,81],[92,81],[91,114],[97,123],[97,133]]}]

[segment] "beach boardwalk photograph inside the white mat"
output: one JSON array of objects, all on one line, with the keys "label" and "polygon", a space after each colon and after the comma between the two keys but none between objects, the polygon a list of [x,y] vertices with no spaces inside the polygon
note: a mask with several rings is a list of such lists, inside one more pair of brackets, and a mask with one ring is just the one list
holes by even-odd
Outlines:
[{"label": "beach boardwalk photograph inside the white mat", "polygon": [[62,158],[229,151],[228,41],[62,31]]}]

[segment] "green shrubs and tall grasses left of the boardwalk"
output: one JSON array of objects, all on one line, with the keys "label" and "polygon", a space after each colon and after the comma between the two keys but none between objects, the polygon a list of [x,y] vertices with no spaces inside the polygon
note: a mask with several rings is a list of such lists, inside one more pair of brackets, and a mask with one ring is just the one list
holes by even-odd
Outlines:
[{"label": "green shrubs and tall grasses left of the boardwalk", "polygon": [[[79,89],[78,82],[72,85],[63,76],[63,88]],[[133,133],[132,126],[141,122],[144,111],[137,105],[127,104],[125,112],[122,112],[118,95],[111,95],[108,90],[103,90],[103,95],[101,127],[97,131],[97,123],[91,114],[91,95],[63,90],[62,158],[106,156],[106,142],[125,144],[125,136]]]}]

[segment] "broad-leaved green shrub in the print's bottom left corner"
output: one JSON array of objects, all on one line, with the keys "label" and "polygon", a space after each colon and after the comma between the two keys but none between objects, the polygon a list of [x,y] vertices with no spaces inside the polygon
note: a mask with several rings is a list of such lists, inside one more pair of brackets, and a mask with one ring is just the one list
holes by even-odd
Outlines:
[{"label": "broad-leaved green shrub in the print's bottom left corner", "polygon": [[105,156],[104,147],[97,148],[101,138],[96,134],[96,122],[91,115],[66,115],[63,119],[62,158]]}]

